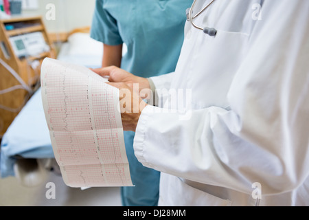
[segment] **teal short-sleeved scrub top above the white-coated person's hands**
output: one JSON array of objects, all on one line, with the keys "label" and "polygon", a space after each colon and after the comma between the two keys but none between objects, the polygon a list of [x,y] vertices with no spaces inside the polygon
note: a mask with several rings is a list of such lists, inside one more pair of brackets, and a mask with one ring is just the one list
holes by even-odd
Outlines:
[{"label": "teal short-sleeved scrub top above the white-coated person's hands", "polygon": [[174,72],[191,0],[97,0],[91,38],[125,43],[121,68],[148,78]]}]

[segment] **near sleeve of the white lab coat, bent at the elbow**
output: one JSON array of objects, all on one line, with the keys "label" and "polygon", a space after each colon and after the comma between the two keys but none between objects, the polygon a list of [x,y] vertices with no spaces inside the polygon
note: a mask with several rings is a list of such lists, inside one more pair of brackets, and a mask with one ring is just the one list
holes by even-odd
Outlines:
[{"label": "near sleeve of the white lab coat, bent at the elbow", "polygon": [[309,175],[308,11],[308,1],[264,1],[267,22],[252,30],[227,94],[231,110],[193,110],[180,120],[147,106],[135,134],[139,161],[248,194],[255,182],[264,195],[300,186]]}]

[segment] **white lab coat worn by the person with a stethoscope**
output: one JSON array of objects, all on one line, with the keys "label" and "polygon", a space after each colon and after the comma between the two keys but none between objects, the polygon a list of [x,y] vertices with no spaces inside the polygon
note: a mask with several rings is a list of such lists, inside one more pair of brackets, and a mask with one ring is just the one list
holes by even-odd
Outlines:
[{"label": "white lab coat worn by the person with a stethoscope", "polygon": [[135,134],[139,161],[162,172],[159,205],[309,205],[308,12],[306,0],[216,0],[194,20],[216,37],[186,23],[176,71],[152,80],[192,89],[191,118],[148,106]]}]

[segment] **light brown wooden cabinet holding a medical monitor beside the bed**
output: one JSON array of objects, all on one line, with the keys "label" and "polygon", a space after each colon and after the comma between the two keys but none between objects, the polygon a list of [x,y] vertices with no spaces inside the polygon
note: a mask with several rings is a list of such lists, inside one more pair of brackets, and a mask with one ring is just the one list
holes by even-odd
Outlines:
[{"label": "light brown wooden cabinet holding a medical monitor beside the bed", "polygon": [[[14,50],[16,45],[10,39],[14,36],[31,36],[30,33],[34,32],[41,32],[48,50],[35,56],[18,56]],[[49,41],[41,17],[0,20],[0,137],[40,86],[41,63],[45,57],[55,58],[56,50]],[[12,72],[18,75],[19,80]],[[27,85],[30,92],[21,87],[21,82]]]}]

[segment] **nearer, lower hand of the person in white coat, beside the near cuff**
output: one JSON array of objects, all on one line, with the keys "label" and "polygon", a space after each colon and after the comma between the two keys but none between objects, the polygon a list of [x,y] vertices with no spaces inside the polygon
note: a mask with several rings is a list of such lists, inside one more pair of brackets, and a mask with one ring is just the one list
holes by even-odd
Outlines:
[{"label": "nearer, lower hand of the person in white coat, beside the near cuff", "polygon": [[136,130],[141,111],[147,106],[139,97],[137,91],[133,91],[126,83],[107,83],[119,89],[120,112],[124,131]]}]

